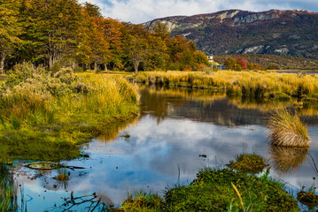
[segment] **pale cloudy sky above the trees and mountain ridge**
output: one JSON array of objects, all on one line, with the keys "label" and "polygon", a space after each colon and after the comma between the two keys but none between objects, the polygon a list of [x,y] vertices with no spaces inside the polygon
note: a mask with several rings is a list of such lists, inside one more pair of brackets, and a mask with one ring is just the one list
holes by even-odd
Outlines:
[{"label": "pale cloudy sky above the trees and mountain ridge", "polygon": [[105,17],[134,24],[167,16],[190,16],[229,9],[318,11],[318,0],[79,0],[79,2],[97,4]]}]

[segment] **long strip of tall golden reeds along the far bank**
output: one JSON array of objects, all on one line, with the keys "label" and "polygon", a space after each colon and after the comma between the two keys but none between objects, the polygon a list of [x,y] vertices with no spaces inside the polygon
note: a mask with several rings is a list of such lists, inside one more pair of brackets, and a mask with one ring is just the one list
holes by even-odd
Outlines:
[{"label": "long strip of tall golden reeds along the far bank", "polygon": [[276,72],[139,72],[144,84],[225,90],[229,96],[285,101],[291,96],[305,102],[318,101],[318,78]]}]

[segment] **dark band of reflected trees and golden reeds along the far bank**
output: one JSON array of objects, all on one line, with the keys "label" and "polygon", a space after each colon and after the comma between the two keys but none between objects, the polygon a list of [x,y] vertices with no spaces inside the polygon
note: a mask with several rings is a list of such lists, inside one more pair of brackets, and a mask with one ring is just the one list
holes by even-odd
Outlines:
[{"label": "dark band of reflected trees and golden reeds along the far bank", "polygon": [[141,117],[150,115],[158,125],[167,118],[185,117],[199,122],[216,125],[263,125],[264,116],[280,107],[297,110],[308,125],[317,124],[318,104],[304,103],[297,108],[293,99],[277,102],[260,99],[227,97],[224,92],[191,89],[187,87],[139,86],[141,93]]}]

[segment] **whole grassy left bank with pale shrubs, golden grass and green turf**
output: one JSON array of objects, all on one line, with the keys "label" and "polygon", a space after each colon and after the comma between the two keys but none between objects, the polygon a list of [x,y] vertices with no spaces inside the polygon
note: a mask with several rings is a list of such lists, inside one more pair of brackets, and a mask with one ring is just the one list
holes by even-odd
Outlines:
[{"label": "whole grassy left bank with pale shrubs, golden grass and green turf", "polygon": [[138,114],[137,88],[121,77],[19,64],[1,87],[0,161],[58,161]]}]

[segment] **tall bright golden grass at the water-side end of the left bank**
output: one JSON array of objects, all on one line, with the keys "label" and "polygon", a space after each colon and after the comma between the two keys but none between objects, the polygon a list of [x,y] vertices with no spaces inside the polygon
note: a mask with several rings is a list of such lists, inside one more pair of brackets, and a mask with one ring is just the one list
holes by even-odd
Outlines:
[{"label": "tall bright golden grass at the water-side end of the left bank", "polygon": [[80,78],[92,88],[86,95],[63,96],[59,108],[78,113],[118,115],[129,107],[136,107],[139,94],[136,86],[119,76],[86,73]]}]

